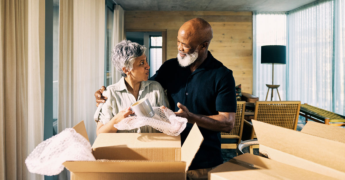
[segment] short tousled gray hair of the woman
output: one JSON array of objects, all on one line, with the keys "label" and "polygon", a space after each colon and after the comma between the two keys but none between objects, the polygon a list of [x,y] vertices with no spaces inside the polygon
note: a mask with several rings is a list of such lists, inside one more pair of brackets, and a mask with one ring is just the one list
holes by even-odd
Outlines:
[{"label": "short tousled gray hair of the woman", "polygon": [[131,71],[135,58],[145,54],[145,51],[145,46],[125,39],[116,44],[112,49],[111,62],[114,64],[116,70],[120,72],[121,76],[127,77],[122,67]]}]

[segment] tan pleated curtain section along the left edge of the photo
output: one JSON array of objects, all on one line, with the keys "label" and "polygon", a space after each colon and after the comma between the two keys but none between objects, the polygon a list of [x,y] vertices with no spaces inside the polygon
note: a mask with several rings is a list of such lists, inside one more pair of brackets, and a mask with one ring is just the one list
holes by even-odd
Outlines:
[{"label": "tan pleated curtain section along the left edge of the photo", "polygon": [[0,178],[27,179],[28,4],[1,1]]}]

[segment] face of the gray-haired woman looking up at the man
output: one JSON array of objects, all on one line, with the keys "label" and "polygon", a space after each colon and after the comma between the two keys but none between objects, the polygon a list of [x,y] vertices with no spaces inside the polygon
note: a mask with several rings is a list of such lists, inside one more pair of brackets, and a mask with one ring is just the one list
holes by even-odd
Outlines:
[{"label": "face of the gray-haired woman looking up at the man", "polygon": [[149,79],[150,66],[147,63],[145,54],[135,58],[133,69],[130,72],[130,77],[134,80],[141,82]]}]

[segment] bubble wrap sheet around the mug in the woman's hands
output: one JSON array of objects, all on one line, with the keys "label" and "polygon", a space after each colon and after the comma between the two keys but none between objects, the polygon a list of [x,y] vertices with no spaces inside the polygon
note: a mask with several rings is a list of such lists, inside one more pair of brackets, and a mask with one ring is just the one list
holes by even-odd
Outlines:
[{"label": "bubble wrap sheet around the mug in the woman's hands", "polygon": [[187,119],[177,117],[170,109],[160,107],[152,107],[152,109],[155,112],[152,118],[132,116],[114,124],[114,127],[118,130],[130,130],[149,125],[170,136],[178,136],[186,128]]}]

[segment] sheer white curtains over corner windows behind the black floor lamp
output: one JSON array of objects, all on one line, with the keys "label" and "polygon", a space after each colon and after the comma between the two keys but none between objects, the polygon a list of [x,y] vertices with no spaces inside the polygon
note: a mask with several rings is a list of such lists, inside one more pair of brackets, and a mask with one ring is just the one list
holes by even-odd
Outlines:
[{"label": "sheer white curtains over corner windows behind the black floor lamp", "polygon": [[[284,35],[278,34],[287,29],[286,65],[282,69],[278,65],[275,68],[275,83],[281,84],[282,100],[285,97],[286,100],[298,100],[345,114],[344,3],[344,0],[316,1],[289,11],[286,21],[284,14],[254,13],[253,93],[260,100],[263,100],[267,89],[264,84],[272,80],[272,71],[260,64],[259,47],[285,45]],[[279,27],[282,21],[286,22],[286,26]]]}]

